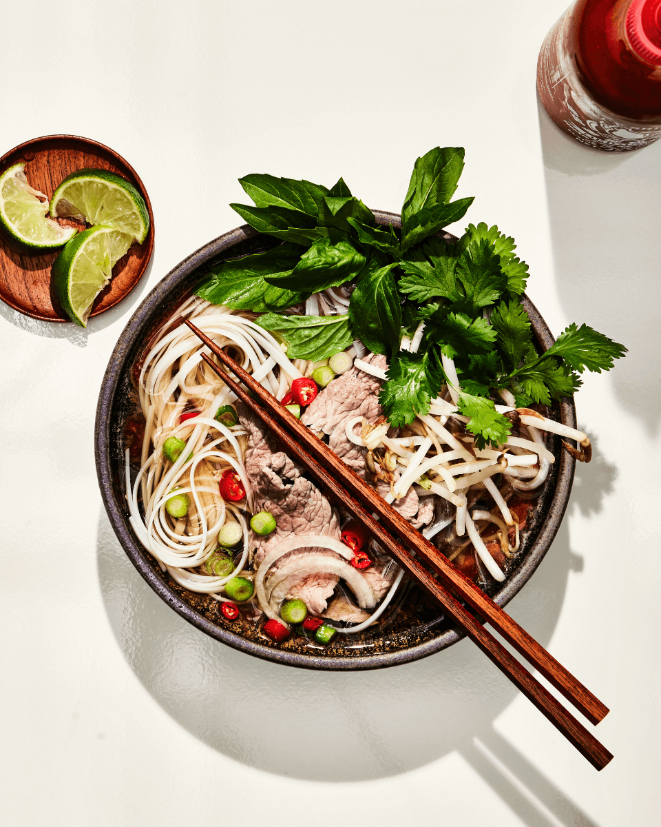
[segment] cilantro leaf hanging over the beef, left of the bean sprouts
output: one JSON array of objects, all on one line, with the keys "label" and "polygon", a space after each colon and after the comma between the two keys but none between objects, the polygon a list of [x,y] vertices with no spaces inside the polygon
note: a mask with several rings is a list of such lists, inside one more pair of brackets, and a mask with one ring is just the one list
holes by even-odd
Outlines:
[{"label": "cilantro leaf hanging over the beef, left of the bean sprouts", "polygon": [[413,422],[417,414],[428,414],[430,400],[440,391],[443,373],[428,351],[399,351],[388,366],[386,381],[378,394],[383,413],[395,426]]}]

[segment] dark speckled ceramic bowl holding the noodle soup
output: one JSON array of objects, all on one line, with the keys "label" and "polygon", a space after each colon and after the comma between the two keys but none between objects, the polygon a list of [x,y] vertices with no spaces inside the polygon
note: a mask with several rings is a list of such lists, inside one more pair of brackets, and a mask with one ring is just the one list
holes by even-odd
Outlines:
[{"label": "dark speckled ceramic bowl holding the noodle soup", "polygon": [[[400,226],[394,213],[374,213],[378,223]],[[451,237],[449,237],[451,238]],[[316,647],[306,638],[292,636],[275,644],[248,621],[232,623],[222,617],[217,602],[206,595],[184,590],[164,575],[154,558],[145,552],[129,523],[125,499],[125,427],[135,413],[136,391],[131,381],[132,367],[144,351],[150,336],[190,294],[204,275],[220,261],[273,246],[272,238],[251,227],[237,227],[210,241],[171,270],[137,308],[117,342],[103,377],[97,407],[95,447],[97,475],[103,503],[121,546],[156,594],[175,612],[212,638],[269,661],[311,669],[351,670],[395,666],[440,652],[456,643],[462,634],[443,617],[440,607],[431,605],[413,584],[404,590],[392,621],[379,624],[355,641],[336,635],[326,648]],[[549,328],[535,306],[524,296],[535,337],[541,349],[554,342]],[[554,415],[576,428],[573,400],[556,405]],[[516,567],[502,584],[494,585],[492,598],[504,606],[525,585],[540,565],[559,529],[573,482],[575,461],[565,452],[558,437],[549,441],[556,461],[531,519],[522,532],[521,552]],[[338,638],[342,638],[338,640]]]}]

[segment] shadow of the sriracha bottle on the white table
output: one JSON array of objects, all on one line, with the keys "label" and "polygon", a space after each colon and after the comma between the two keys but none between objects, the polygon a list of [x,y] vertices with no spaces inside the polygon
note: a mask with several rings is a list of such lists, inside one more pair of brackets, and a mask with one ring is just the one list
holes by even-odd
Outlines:
[{"label": "shadow of the sriracha bottle on the white table", "polygon": [[629,348],[611,371],[612,387],[654,435],[661,416],[661,141],[635,152],[592,150],[538,106],[559,299],[570,321]]}]

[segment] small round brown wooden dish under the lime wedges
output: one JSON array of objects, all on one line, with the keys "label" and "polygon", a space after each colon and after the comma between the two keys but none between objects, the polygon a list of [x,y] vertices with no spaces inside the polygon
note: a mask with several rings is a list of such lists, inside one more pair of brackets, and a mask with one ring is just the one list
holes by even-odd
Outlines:
[{"label": "small round brown wooden dish under the lime wedges", "polygon": [[[94,300],[90,315],[97,316],[112,308],[140,281],[154,252],[154,214],[150,197],[136,170],[107,146],[74,135],[47,135],[15,146],[0,158],[0,174],[20,161],[26,163],[29,184],[49,198],[67,175],[83,167],[115,172],[131,181],[145,198],[150,231],[142,244],[132,244],[126,256],[117,261],[112,281]],[[83,229],[82,224],[67,218],[57,221]],[[40,254],[20,252],[0,236],[0,299],[26,316],[45,322],[69,322],[50,288],[50,267],[58,253],[59,250]]]}]

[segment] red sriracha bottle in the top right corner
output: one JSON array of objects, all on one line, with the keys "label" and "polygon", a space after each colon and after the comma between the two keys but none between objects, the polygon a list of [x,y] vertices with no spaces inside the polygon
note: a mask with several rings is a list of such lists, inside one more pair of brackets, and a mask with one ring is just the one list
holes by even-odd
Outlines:
[{"label": "red sriracha bottle in the top right corner", "polygon": [[549,31],[537,90],[554,123],[595,149],[661,137],[661,0],[577,0]]}]

